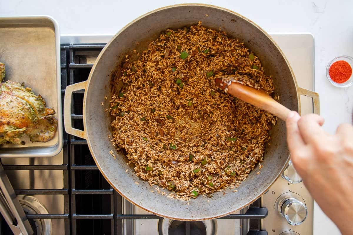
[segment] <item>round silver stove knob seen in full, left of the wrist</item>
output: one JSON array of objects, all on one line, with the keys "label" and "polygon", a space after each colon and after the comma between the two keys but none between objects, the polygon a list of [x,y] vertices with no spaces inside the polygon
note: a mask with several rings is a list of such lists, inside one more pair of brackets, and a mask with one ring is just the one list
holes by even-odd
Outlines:
[{"label": "round silver stove knob seen in full, left of the wrist", "polygon": [[289,224],[296,226],[304,222],[308,215],[306,205],[295,198],[286,198],[279,205],[281,215]]}]

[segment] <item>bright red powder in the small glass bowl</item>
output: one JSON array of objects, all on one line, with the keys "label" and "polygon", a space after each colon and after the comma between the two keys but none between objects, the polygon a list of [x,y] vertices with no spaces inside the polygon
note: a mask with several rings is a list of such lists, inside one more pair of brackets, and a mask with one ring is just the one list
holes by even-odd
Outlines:
[{"label": "bright red powder in the small glass bowl", "polygon": [[329,75],[336,83],[346,82],[352,75],[352,67],[346,61],[336,61],[330,66]]}]

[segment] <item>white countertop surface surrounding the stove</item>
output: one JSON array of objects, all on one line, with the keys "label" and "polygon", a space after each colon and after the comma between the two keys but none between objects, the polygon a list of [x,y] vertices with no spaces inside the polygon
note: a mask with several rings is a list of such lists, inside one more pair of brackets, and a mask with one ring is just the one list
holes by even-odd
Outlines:
[{"label": "white countertop surface surrounding the stove", "polygon": [[[336,56],[353,56],[353,1],[185,1],[217,5],[251,19],[269,33],[310,32],[315,37],[315,90],[320,95],[324,128],[334,133],[337,125],[352,123],[353,86],[336,88],[326,78],[328,62]],[[115,34],[127,23],[153,9],[179,4],[158,1],[32,0],[2,1],[0,16],[50,15],[61,34]],[[335,225],[314,208],[314,235],[340,234]]]}]

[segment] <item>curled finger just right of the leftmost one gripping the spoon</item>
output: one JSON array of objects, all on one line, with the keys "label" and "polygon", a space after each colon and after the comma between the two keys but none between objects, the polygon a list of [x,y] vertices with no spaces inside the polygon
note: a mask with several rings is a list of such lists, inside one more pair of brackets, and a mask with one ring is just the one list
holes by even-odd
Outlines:
[{"label": "curled finger just right of the leftmost one gripping the spoon", "polygon": [[324,119],[317,114],[307,114],[298,121],[299,132],[305,144],[319,141],[327,134],[322,129]]}]

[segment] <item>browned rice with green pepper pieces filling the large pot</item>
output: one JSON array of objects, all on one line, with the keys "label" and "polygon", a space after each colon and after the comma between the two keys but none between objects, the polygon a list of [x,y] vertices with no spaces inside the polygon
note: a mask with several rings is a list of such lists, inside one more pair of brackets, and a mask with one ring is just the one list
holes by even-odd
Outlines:
[{"label": "browned rice with green pepper pieces filling the large pot", "polygon": [[[113,86],[112,143],[124,149],[138,177],[187,200],[238,187],[263,160],[276,118],[217,89],[215,75],[247,75],[272,94],[273,80],[259,59],[225,32],[166,30]],[[235,190],[237,191],[237,190]]]}]

